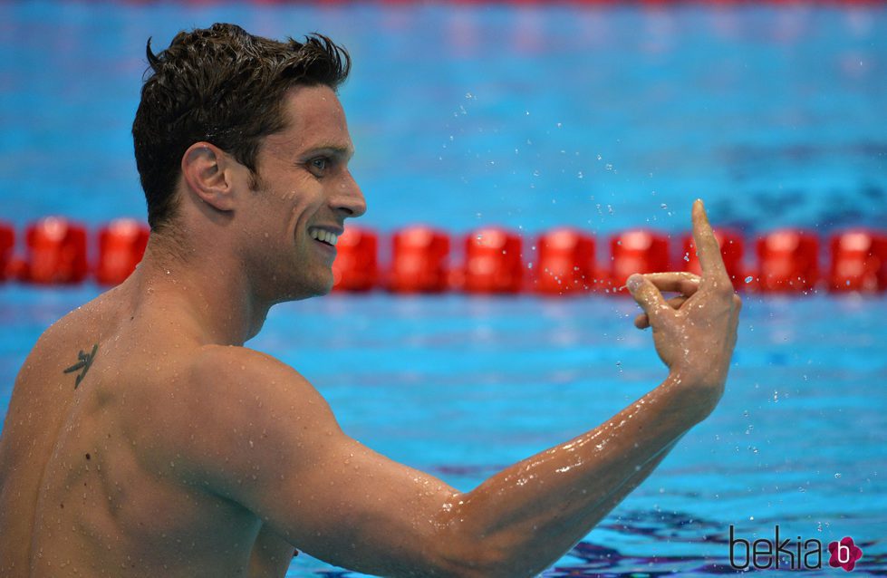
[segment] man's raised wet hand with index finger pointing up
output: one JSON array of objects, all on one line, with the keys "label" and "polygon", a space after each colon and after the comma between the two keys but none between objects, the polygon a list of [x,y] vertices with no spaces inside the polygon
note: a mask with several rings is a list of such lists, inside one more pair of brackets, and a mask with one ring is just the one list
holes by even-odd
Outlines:
[{"label": "man's raised wet hand with index finger pointing up", "polygon": [[[656,352],[672,377],[683,386],[704,392],[700,401],[708,403],[710,411],[727,381],[742,301],[733,290],[701,200],[693,204],[693,238],[701,277],[689,273],[635,274],[627,285],[644,312],[635,325],[641,329],[652,327]],[[663,291],[679,296],[666,301]]]}]

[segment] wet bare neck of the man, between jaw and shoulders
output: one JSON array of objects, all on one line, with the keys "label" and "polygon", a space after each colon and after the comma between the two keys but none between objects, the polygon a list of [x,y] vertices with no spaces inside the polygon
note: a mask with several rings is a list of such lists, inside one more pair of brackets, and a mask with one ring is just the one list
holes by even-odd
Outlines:
[{"label": "wet bare neck of the man, between jaw and shoulders", "polygon": [[273,303],[261,300],[230,253],[202,254],[151,233],[139,268],[127,280],[137,308],[159,307],[200,342],[243,345]]}]

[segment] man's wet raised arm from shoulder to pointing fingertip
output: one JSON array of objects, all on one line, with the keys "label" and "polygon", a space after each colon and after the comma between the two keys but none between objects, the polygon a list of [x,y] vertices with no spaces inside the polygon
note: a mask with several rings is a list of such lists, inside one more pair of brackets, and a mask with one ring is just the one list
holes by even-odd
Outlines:
[{"label": "man's wet raised arm from shoulder to pointing fingertip", "polygon": [[[632,276],[669,376],[597,428],[460,494],[345,436],[320,395],[284,364],[208,348],[216,428],[188,444],[191,475],[332,564],[390,576],[532,576],[647,477],[714,409],[736,342],[739,302],[701,203],[703,275]],[[666,302],[661,290],[683,294]],[[199,411],[199,408],[194,410]],[[206,409],[204,409],[206,410]]]}]

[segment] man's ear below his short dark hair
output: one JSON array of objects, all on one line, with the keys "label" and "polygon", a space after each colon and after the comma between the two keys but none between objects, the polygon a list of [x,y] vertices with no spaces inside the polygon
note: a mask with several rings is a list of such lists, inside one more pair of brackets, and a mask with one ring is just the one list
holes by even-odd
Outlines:
[{"label": "man's ear below his short dark hair", "polygon": [[242,188],[240,164],[209,142],[195,142],[182,155],[182,178],[188,190],[219,211],[232,211]]}]

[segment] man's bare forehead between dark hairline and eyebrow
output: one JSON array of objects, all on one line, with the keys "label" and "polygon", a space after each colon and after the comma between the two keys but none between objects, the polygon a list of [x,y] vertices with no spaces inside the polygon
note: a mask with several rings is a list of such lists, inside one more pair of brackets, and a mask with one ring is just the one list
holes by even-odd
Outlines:
[{"label": "man's bare forehead between dark hairline and eyebrow", "polygon": [[317,149],[352,150],[342,103],[328,86],[298,86],[284,95],[286,128],[265,138],[269,152],[298,154]]}]

